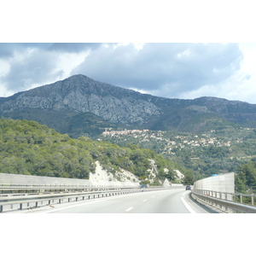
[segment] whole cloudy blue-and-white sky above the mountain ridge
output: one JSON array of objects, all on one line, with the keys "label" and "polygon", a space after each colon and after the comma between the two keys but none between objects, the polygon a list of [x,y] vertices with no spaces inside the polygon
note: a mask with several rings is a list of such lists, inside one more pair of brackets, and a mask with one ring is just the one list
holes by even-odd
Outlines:
[{"label": "whole cloudy blue-and-white sky above the mountain ridge", "polygon": [[1,43],[0,96],[75,74],[154,96],[256,103],[254,43]]}]

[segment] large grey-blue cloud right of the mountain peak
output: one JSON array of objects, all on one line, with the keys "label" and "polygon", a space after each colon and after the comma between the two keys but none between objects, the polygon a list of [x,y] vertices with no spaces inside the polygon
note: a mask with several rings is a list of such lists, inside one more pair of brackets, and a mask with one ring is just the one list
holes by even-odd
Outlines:
[{"label": "large grey-blue cloud right of the mountain peak", "polygon": [[241,63],[237,44],[117,44],[96,49],[73,70],[125,88],[179,97],[224,82]]}]

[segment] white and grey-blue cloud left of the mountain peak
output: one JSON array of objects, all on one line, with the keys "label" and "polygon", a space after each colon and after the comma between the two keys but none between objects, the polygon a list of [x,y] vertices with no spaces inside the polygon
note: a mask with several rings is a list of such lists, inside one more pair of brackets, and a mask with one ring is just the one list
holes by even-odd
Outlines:
[{"label": "white and grey-blue cloud left of the mountain peak", "polygon": [[88,49],[78,53],[61,52],[34,45],[11,47],[14,48],[12,54],[4,60],[0,59],[1,96],[11,96],[18,91],[67,79],[73,68],[83,62],[90,52]]}]

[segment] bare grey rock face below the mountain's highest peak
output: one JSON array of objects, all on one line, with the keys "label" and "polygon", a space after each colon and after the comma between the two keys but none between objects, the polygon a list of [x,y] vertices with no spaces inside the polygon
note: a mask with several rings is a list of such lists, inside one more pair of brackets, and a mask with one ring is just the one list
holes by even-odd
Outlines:
[{"label": "bare grey rock face below the mountain's highest peak", "polygon": [[113,123],[143,124],[151,115],[160,114],[153,103],[140,93],[103,84],[84,75],[75,75],[55,84],[44,85],[15,96],[1,104],[1,112],[21,108],[40,108],[94,113]]}]

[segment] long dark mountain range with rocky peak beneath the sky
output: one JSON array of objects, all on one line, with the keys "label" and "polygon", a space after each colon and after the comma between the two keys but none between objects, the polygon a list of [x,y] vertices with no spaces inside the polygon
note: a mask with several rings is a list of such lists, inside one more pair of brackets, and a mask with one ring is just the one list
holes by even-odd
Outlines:
[{"label": "long dark mountain range with rocky peak beneath the sky", "polygon": [[106,127],[201,132],[224,125],[256,127],[256,105],[217,97],[150,96],[84,75],[0,98],[0,115],[30,119],[71,137]]}]

